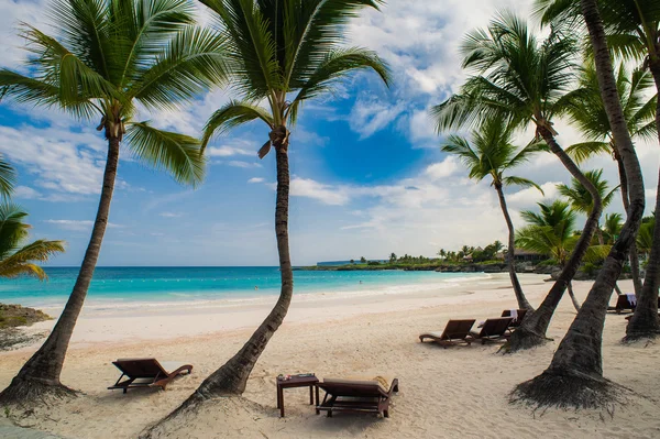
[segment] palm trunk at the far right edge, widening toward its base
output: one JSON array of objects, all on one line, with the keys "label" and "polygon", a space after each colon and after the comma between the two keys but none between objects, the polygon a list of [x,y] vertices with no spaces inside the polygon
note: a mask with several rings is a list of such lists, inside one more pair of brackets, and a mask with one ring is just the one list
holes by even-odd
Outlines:
[{"label": "palm trunk at the far right edge, widening toward its base", "polygon": [[[660,59],[651,57],[649,67],[656,81],[656,89],[660,92]],[[660,100],[656,107],[656,125],[658,141],[660,141]],[[656,195],[656,217],[660,215],[660,176],[658,176],[658,194]],[[658,317],[658,289],[660,288],[660,220],[656,219],[653,227],[653,242],[649,253],[646,276],[641,294],[638,295],[635,314],[626,327],[624,340],[638,340],[640,338],[654,338],[660,334],[660,318]]]}]

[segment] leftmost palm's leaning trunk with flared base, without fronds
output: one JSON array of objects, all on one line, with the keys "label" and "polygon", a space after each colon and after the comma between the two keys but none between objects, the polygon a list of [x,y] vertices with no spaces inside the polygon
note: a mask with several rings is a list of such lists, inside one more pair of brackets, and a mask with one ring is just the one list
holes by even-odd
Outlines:
[{"label": "leftmost palm's leaning trunk with flared base, without fronds", "polygon": [[119,139],[114,138],[108,140],[108,160],[103,173],[103,187],[99,208],[74,289],[44,344],[28,360],[9,387],[0,394],[1,403],[29,400],[45,393],[59,396],[74,394],[74,391],[61,384],[59,374],[101,251],[103,234],[108,226],[108,216],[110,215],[110,202],[114,190],[118,163]]}]

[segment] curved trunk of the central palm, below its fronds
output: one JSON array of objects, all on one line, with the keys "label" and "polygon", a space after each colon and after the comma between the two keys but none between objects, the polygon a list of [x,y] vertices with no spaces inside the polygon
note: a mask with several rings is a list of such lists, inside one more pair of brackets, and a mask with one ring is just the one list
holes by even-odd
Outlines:
[{"label": "curved trunk of the central palm, below its fronds", "polygon": [[254,331],[250,340],[241,350],[220,369],[209,375],[200,386],[176,410],[147,429],[141,438],[150,438],[158,426],[174,418],[182,411],[196,407],[205,399],[218,396],[240,396],[245,391],[248,378],[266,349],[268,340],[284,321],[294,295],[294,272],[289,256],[288,244],[288,196],[289,196],[289,167],[286,147],[275,145],[277,161],[277,197],[275,207],[275,234],[277,237],[277,251],[279,254],[279,273],[282,289],[279,298],[271,314]]}]

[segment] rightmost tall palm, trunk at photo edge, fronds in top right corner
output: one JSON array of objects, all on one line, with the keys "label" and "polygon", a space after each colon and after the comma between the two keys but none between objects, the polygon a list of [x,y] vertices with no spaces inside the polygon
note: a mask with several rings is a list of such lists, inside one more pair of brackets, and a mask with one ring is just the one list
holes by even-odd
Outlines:
[{"label": "rightmost tall palm, trunk at photo edge, fronds in top right corner", "polygon": [[[598,0],[594,8],[602,13],[604,39],[617,54],[644,62],[653,77],[656,90],[660,94],[660,3],[652,0]],[[575,15],[572,2],[542,0],[546,21],[561,20]],[[585,20],[587,28],[590,23]],[[592,29],[590,28],[590,34]],[[592,35],[593,40],[593,35]],[[656,127],[660,141],[660,99],[656,101]],[[653,211],[660,211],[660,177]],[[635,314],[626,328],[626,339],[654,338],[660,333],[658,317],[658,289],[660,288],[660,222],[653,230],[653,242],[641,294]],[[632,243],[635,243],[632,241]]]}]

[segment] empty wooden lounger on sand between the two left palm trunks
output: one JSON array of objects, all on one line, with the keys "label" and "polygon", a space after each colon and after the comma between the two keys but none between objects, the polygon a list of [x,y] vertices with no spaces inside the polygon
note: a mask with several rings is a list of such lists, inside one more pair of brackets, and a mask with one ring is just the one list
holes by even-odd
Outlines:
[{"label": "empty wooden lounger on sand between the two left palm trunks", "polygon": [[[109,389],[121,388],[127,393],[133,387],[161,387],[165,389],[167,384],[184,372],[193,372],[190,364],[175,361],[160,363],[156,359],[119,359],[112,364],[121,371],[121,376]],[[123,377],[127,377],[122,381]]]}]

